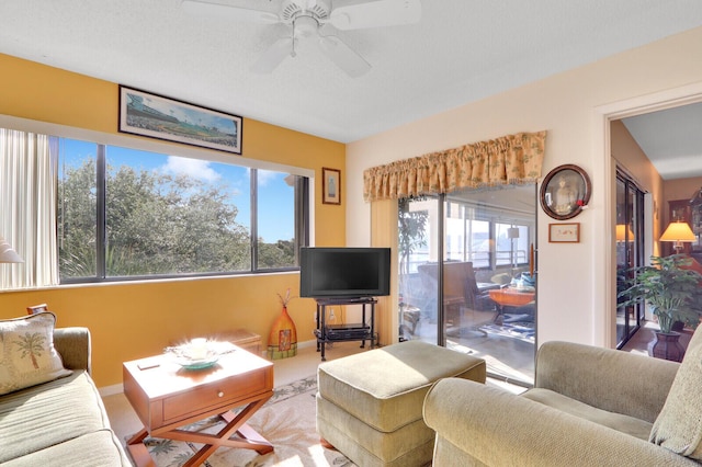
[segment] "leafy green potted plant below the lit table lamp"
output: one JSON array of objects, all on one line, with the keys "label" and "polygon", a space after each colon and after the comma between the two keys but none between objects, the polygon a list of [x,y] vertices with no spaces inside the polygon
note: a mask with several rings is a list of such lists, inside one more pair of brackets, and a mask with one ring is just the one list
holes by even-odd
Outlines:
[{"label": "leafy green potted plant below the lit table lamp", "polygon": [[625,301],[620,306],[631,306],[641,300],[648,304],[658,318],[660,331],[648,345],[648,354],[658,358],[680,362],[684,349],[679,342],[680,333],[672,330],[678,321],[697,329],[702,314],[700,283],[702,275],[686,269],[691,264],[689,257],[650,257],[650,265],[632,267],[627,288],[619,293]]}]

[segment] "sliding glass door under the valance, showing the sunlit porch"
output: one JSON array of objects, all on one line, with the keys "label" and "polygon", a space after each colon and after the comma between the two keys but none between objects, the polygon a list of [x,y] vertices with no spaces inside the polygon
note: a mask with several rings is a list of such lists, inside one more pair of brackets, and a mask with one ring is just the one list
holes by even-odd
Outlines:
[{"label": "sliding glass door under the valance, showing the sunlit porch", "polygon": [[534,185],[399,204],[400,340],[486,358],[533,383],[536,331]]}]

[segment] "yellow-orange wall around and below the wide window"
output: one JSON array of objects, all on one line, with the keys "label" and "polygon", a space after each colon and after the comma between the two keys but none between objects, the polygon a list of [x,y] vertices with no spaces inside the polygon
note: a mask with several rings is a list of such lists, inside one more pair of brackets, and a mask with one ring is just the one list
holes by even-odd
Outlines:
[{"label": "yellow-orange wall around and below the wide window", "polygon": [[[0,70],[0,114],[117,134],[116,83],[1,54]],[[242,157],[315,170],[316,244],[344,246],[346,206],[322,205],[319,197],[322,166],[341,169],[344,176],[344,145],[244,117]],[[139,138],[120,136],[124,146]],[[343,179],[341,186],[346,192]],[[346,193],[341,200],[346,204]],[[195,335],[246,328],[261,334],[267,345],[281,309],[275,294],[287,287],[296,295],[298,273],[4,292],[0,318],[47,303],[58,326],[87,326],[93,338],[93,376],[98,386],[109,386],[122,383],[122,362]],[[314,301],[295,298],[288,311],[298,342],[310,340]]]}]

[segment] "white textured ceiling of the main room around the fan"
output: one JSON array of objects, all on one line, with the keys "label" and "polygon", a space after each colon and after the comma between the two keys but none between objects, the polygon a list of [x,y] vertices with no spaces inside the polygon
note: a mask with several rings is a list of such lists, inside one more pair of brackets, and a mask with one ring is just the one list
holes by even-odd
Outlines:
[{"label": "white textured ceiling of the main room around the fan", "polygon": [[700,0],[423,0],[418,24],[338,32],[373,67],[360,78],[316,48],[260,76],[281,25],[179,0],[2,0],[0,53],[350,143],[699,25]]}]

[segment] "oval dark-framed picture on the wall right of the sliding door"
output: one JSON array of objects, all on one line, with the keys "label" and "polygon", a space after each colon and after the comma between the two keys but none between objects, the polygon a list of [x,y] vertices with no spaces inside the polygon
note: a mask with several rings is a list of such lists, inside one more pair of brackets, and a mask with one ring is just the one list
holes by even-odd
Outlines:
[{"label": "oval dark-framed picture on the wall right of the sliding door", "polygon": [[556,167],[541,184],[540,201],[550,217],[571,219],[590,201],[590,178],[585,170],[571,163]]}]

